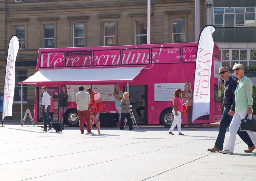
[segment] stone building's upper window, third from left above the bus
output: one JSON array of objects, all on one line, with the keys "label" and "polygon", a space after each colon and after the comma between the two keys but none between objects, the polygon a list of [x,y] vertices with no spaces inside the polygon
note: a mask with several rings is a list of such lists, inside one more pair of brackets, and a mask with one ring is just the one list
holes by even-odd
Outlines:
[{"label": "stone building's upper window, third from left above the bus", "polygon": [[84,47],[84,23],[74,23],[74,47]]}]

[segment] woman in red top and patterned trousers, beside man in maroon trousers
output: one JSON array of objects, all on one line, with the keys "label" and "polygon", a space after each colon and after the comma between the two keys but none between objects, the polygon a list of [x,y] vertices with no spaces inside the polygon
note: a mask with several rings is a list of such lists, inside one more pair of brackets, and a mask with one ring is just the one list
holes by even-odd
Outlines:
[{"label": "woman in red top and patterned trousers, beside man in maroon trousers", "polygon": [[[102,98],[100,97],[99,100],[94,100],[94,95],[97,94],[97,92],[93,92],[91,88],[87,88],[85,91],[90,94],[90,104],[88,105],[88,109],[90,112],[91,129],[93,124],[96,124],[98,134],[100,134],[100,113],[97,112],[93,106],[96,106],[96,103],[100,103]],[[95,104],[93,102],[95,102]]]}]

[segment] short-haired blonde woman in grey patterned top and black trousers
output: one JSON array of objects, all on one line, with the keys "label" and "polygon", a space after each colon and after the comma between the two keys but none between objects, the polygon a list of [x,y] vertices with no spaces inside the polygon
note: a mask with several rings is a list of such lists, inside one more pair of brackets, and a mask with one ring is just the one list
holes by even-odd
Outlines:
[{"label": "short-haired blonde woman in grey patterned top and black trousers", "polygon": [[129,101],[129,93],[124,92],[123,99],[121,100],[121,123],[120,123],[120,130],[124,130],[124,119],[127,119],[129,130],[133,130],[134,127],[132,127],[131,122],[131,116],[130,116],[130,101]]}]

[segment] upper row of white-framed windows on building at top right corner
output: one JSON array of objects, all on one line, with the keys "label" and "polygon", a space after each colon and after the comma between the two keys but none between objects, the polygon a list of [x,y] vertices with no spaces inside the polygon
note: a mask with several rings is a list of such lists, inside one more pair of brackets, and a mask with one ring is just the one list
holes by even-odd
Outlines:
[{"label": "upper row of white-framed windows on building at top right corner", "polygon": [[255,27],[255,7],[214,8],[216,27]]}]

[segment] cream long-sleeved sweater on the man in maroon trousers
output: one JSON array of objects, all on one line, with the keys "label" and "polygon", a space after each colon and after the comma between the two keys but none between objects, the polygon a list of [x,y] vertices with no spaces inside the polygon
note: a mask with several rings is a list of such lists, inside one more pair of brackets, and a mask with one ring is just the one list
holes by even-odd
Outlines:
[{"label": "cream long-sleeved sweater on the man in maroon trousers", "polygon": [[88,110],[88,104],[90,104],[90,94],[84,90],[78,92],[76,94],[76,104],[78,111]]}]

